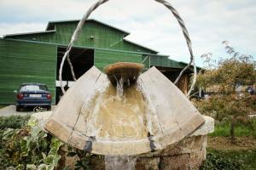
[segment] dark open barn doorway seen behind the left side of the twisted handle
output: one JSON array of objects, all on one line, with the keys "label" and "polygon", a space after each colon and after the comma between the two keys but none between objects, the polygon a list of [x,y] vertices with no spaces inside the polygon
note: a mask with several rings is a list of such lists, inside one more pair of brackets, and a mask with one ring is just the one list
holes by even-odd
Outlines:
[{"label": "dark open barn doorway seen behind the left side of the twisted handle", "polygon": [[[60,46],[57,48],[57,70],[56,70],[56,104],[61,99],[61,84],[59,81],[59,70],[61,66],[61,59],[66,53],[67,47]],[[69,58],[73,65],[73,71],[77,79],[83,76],[84,73],[94,65],[94,49],[90,48],[72,48],[69,53]],[[62,81],[65,88],[70,88],[73,85],[73,77],[70,71],[70,67],[65,61],[62,69]]]}]

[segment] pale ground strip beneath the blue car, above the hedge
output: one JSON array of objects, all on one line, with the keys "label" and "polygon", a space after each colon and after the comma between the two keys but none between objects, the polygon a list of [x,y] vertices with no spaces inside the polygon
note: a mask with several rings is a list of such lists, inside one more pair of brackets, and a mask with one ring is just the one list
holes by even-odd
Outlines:
[{"label": "pale ground strip beneath the blue car, above the hedge", "polygon": [[[54,108],[55,108],[55,105],[52,105],[52,109]],[[8,105],[0,109],[0,116],[13,116],[13,115],[26,116],[26,115],[32,115],[33,113],[35,112],[32,110],[32,108],[16,111],[15,105]]]}]

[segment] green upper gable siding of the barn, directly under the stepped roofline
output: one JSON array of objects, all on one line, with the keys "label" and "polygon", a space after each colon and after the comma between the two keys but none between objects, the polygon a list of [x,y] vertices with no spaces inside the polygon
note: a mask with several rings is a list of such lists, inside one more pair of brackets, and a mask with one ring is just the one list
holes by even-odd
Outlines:
[{"label": "green upper gable siding of the barn, directly under the stepped roofline", "polygon": [[[39,34],[25,34],[7,36],[6,38],[30,40],[38,42],[54,42],[63,45],[67,45],[73,31],[76,29],[78,22],[61,22],[55,23],[55,32],[45,32]],[[94,20],[86,21],[77,42],[75,45],[87,47],[87,48],[108,48],[118,49],[124,51],[133,51],[138,53],[150,53],[155,54],[154,51],[143,48],[132,42],[126,42],[123,40],[126,33],[116,30],[112,27],[102,25]],[[93,36],[93,39],[90,37]]]}]

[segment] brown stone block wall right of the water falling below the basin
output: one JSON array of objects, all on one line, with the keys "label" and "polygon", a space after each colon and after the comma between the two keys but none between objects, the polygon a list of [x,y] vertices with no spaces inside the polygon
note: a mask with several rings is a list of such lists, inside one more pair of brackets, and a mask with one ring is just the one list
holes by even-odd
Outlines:
[{"label": "brown stone block wall right of the water falling below the basin", "polygon": [[164,150],[139,156],[137,170],[198,169],[206,159],[207,135],[192,136]]}]

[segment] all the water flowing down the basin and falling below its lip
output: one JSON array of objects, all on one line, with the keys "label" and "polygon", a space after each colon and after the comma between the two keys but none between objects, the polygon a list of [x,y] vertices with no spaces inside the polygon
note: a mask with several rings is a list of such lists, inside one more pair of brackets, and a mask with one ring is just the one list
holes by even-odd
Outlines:
[{"label": "all the water flowing down the basin and falling below its lip", "polygon": [[[137,88],[137,82],[131,83],[125,77],[115,79],[116,86],[108,84],[102,93],[91,100],[93,108],[90,111],[94,118],[90,119],[91,126],[86,135],[109,141],[147,138],[144,115],[146,103],[142,92]],[[89,111],[88,107],[85,108]],[[106,170],[134,170],[136,162],[136,156],[105,156]]]}]

